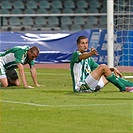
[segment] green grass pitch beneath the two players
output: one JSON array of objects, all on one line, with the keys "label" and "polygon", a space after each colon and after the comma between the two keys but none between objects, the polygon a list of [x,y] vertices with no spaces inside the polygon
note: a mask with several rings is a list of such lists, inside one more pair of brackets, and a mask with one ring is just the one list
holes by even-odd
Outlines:
[{"label": "green grass pitch beneath the two players", "polygon": [[[1,133],[132,133],[133,95],[112,84],[73,93],[69,70],[37,69],[43,87],[0,89]],[[33,85],[26,69],[29,85]]]}]

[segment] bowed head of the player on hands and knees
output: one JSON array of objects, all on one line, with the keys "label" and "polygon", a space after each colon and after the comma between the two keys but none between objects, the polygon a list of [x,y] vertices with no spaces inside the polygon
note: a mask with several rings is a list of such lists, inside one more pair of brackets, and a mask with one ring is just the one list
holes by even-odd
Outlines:
[{"label": "bowed head of the player on hands and knees", "polygon": [[39,52],[40,52],[40,50],[38,47],[36,47],[36,46],[31,47],[28,50],[28,59],[35,60],[39,56]]}]

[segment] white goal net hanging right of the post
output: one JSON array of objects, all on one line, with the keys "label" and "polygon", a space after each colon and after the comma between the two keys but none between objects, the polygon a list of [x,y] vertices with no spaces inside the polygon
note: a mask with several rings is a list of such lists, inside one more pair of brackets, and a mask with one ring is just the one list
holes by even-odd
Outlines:
[{"label": "white goal net hanging right of the post", "polygon": [[133,78],[133,0],[114,0],[114,66]]}]

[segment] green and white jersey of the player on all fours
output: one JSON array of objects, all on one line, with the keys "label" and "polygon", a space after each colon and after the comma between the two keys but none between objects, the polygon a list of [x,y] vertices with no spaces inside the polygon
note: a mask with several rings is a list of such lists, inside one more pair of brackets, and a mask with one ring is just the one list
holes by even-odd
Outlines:
[{"label": "green and white jersey of the player on all fours", "polygon": [[6,70],[17,68],[17,64],[21,63],[34,65],[34,60],[29,61],[27,51],[30,49],[29,46],[15,46],[8,49],[4,53],[0,54],[0,62],[3,64]]}]

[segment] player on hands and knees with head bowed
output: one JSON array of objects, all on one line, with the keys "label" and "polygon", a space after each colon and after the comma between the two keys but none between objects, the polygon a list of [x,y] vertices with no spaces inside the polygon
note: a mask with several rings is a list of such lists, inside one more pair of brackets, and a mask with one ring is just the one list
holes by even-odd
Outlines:
[{"label": "player on hands and knees with head bowed", "polygon": [[15,46],[0,54],[0,83],[2,87],[19,86],[20,80],[16,68],[25,88],[29,86],[26,81],[24,65],[29,64],[31,76],[35,86],[40,86],[37,82],[34,60],[39,55],[39,48],[36,46]]}]

